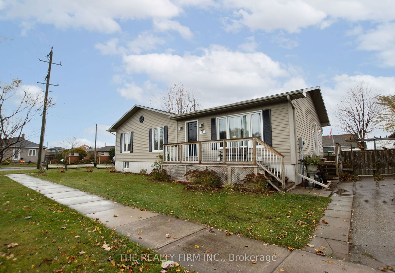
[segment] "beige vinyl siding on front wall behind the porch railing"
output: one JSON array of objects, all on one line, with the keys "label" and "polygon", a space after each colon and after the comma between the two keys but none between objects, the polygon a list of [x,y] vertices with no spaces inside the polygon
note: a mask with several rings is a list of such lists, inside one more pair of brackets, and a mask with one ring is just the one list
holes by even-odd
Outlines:
[{"label": "beige vinyl siding on front wall behind the porch railing", "polygon": [[[186,142],[187,126],[186,122],[198,120],[203,123],[203,128],[198,128],[198,140],[211,140],[211,118],[218,118],[222,116],[231,116],[235,114],[243,114],[248,112],[255,112],[264,109],[271,109],[271,125],[272,125],[272,142],[273,148],[285,156],[285,163],[291,163],[290,155],[290,126],[288,117],[288,103],[281,103],[276,105],[265,105],[263,107],[244,108],[242,110],[228,111],[221,114],[201,116],[197,119],[179,120],[178,127],[182,126],[178,133],[178,142]],[[218,124],[217,124],[218,126]],[[199,134],[200,130],[205,130],[205,134]],[[171,143],[169,141],[169,143]]]}]

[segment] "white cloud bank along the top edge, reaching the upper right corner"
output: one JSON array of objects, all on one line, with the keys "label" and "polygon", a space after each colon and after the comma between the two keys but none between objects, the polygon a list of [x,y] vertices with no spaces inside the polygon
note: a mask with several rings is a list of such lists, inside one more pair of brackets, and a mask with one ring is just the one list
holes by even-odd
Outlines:
[{"label": "white cloud bank along the top edge, reaching the upper right corner", "polygon": [[337,19],[348,22],[389,22],[395,19],[393,0],[223,0],[225,9],[233,9],[233,17],[224,18],[225,29],[285,30],[299,32],[301,28],[326,28]]}]

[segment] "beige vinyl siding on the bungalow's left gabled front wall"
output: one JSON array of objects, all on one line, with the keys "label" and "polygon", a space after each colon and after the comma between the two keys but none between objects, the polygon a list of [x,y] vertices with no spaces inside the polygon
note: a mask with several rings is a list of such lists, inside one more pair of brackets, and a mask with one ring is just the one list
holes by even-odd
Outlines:
[{"label": "beige vinyl siding on the bungalow's left gabled front wall", "polygon": [[[140,123],[140,116],[144,116],[144,122]],[[117,140],[115,146],[116,161],[129,162],[154,162],[156,156],[162,152],[149,152],[149,129],[158,127],[168,127],[167,142],[175,142],[176,122],[169,119],[166,114],[140,109],[125,123],[117,129]],[[120,134],[133,132],[133,153],[120,153]]]}]

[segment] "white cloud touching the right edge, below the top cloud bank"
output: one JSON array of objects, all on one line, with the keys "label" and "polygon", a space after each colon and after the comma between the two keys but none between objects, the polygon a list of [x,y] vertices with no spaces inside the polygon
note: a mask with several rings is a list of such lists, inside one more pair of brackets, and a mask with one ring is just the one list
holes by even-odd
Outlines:
[{"label": "white cloud touching the right edge, below the top cloud bank", "polygon": [[378,65],[395,66],[395,23],[386,23],[357,37],[358,49],[376,52]]}]

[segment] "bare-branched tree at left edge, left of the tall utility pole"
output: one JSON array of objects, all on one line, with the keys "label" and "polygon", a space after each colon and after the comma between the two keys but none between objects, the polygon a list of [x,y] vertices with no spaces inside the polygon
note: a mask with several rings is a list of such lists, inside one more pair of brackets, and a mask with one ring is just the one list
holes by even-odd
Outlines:
[{"label": "bare-branched tree at left edge, left of the tall utility pole", "polygon": [[0,85],[0,162],[15,154],[12,147],[21,145],[24,127],[41,108],[42,97],[23,90],[20,84],[21,80],[13,79],[10,85],[5,82]]}]

